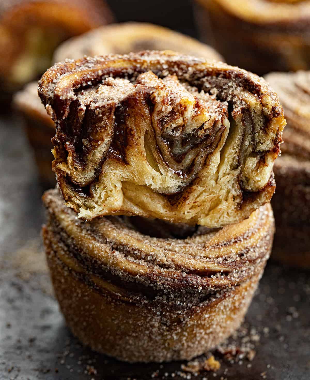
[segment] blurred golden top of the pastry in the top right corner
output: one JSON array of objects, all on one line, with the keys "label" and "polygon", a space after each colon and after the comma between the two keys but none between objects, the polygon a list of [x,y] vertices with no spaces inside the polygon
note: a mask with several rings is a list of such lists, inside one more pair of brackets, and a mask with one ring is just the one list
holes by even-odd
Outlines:
[{"label": "blurred golden top of the pastry in the top right corner", "polygon": [[[290,27],[291,21],[294,28],[305,27],[305,22],[310,17],[309,0],[196,0],[202,5],[220,6],[229,14],[244,21],[264,23],[266,26],[275,22],[283,22]],[[213,5],[212,5],[213,3]],[[303,22],[305,21],[305,22]],[[281,25],[279,25],[281,27]]]}]

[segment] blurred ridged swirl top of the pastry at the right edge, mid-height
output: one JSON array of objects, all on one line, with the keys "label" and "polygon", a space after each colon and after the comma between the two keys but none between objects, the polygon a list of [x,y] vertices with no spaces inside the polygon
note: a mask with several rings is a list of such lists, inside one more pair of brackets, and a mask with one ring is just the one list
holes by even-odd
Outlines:
[{"label": "blurred ridged swirl top of the pastry at the right edge, mid-height", "polygon": [[310,71],[270,73],[266,80],[277,92],[287,121],[282,158],[310,163]]}]

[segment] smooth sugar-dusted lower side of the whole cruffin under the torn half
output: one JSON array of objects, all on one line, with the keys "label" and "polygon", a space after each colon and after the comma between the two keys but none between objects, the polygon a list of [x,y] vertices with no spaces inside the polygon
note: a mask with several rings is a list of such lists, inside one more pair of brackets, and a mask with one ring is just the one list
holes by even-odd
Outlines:
[{"label": "smooth sugar-dusted lower side of the whole cruffin under the torn half", "polygon": [[60,309],[73,334],[93,350],[128,362],[189,360],[216,347],[242,323],[263,274],[223,292],[219,298],[182,310],[160,302],[117,298],[82,279],[57,259],[44,230],[47,263]]}]

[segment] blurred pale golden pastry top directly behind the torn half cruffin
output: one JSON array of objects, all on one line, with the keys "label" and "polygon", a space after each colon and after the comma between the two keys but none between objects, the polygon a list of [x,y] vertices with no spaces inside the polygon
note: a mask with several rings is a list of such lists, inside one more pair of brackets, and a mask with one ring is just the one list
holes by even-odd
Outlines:
[{"label": "blurred pale golden pastry top directly behind the torn half cruffin", "polygon": [[168,28],[144,22],[102,26],[71,38],[55,51],[54,62],[104,54],[127,54],[142,50],[171,49],[183,54],[223,61],[212,47]]}]

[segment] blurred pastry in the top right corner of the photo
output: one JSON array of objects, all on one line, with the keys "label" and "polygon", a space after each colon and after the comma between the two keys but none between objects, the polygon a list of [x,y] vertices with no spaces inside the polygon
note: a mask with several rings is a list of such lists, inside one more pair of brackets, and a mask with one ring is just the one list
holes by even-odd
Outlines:
[{"label": "blurred pastry in the top right corner of the photo", "polygon": [[231,65],[264,75],[310,68],[310,1],[196,0],[202,39]]}]

